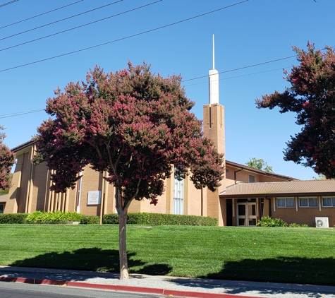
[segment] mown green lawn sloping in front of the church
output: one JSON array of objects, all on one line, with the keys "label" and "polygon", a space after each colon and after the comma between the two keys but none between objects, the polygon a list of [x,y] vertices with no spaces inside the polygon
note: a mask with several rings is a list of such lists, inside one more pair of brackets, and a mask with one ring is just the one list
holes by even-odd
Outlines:
[{"label": "mown green lawn sloping in front of the church", "polygon": [[[116,225],[0,225],[0,265],[118,272]],[[128,225],[130,273],[335,285],[335,230]]]}]

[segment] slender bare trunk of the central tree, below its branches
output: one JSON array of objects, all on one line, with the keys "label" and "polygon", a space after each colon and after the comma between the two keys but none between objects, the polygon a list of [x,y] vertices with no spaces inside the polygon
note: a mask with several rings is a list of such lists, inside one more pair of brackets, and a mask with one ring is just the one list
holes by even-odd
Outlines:
[{"label": "slender bare trunk of the central tree, below its branches", "polygon": [[127,211],[120,209],[118,213],[118,254],[120,256],[120,280],[123,280],[129,278],[126,245]]}]

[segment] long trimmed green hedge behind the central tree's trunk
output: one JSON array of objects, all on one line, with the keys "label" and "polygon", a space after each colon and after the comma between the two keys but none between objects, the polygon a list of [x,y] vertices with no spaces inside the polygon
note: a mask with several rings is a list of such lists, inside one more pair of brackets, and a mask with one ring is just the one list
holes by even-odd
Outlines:
[{"label": "long trimmed green hedge behind the central tree's trunk", "polygon": [[[118,225],[118,215],[116,213],[106,214],[102,218],[102,223]],[[127,223],[129,225],[218,225],[217,218],[213,217],[164,213],[128,213]]]}]

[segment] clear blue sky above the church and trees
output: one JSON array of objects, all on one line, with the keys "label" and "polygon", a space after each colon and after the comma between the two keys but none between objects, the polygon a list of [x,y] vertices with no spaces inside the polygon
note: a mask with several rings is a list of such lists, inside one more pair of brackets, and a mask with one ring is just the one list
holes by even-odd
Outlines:
[{"label": "clear blue sky above the church and trees", "polygon": [[[76,1],[18,0],[1,6],[9,1],[0,0],[0,124],[6,127],[5,142],[10,148],[29,141],[47,119],[44,111],[31,111],[44,109],[56,88],[70,81],[85,81],[87,71],[96,64],[105,71],[126,68],[128,59],[133,64],[146,61],[162,76],[181,73],[186,93],[196,104],[193,112],[202,119],[208,83],[207,78],[199,77],[207,76],[212,68],[214,34],[215,66],[223,72],[219,90],[226,115],[226,159],[244,164],[250,157],[263,158],[276,173],[298,179],[317,176],[310,168],[283,160],[286,141],[300,131],[295,115],[279,114],[278,109],[258,110],[255,98],[284,90],[287,82],[282,68],[289,70],[298,64],[294,57],[282,59],[294,55],[291,44],[306,49],[310,40],[317,49],[325,44],[335,46],[334,0],[250,0],[240,4],[240,0],[123,0],[68,18],[117,1],[83,0],[10,25]],[[147,4],[151,5],[123,13]],[[219,8],[224,9],[137,35]],[[123,14],[108,18],[118,13]],[[63,18],[68,19],[30,30]],[[107,19],[30,42],[102,18]],[[3,28],[6,25],[10,26]],[[26,30],[30,31],[18,34]],[[131,35],[137,36],[124,39]],[[24,42],[29,43],[13,47]],[[110,43],[49,59],[106,42]],[[42,59],[48,60],[30,64]],[[276,59],[281,60],[261,64]],[[14,68],[23,64],[30,65]],[[198,79],[187,81],[193,78]],[[8,117],[21,112],[31,113]]]}]

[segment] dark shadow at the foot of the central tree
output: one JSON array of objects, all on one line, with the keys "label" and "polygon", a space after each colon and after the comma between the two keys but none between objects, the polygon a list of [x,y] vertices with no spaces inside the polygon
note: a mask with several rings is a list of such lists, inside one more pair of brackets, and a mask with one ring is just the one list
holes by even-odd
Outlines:
[{"label": "dark shadow at the foot of the central tree", "polygon": [[[144,261],[134,259],[135,256],[136,254],[133,252],[128,253],[128,268],[130,273],[167,275],[172,270],[171,266],[167,264],[145,265]],[[118,250],[103,250],[99,248],[77,249],[75,251],[64,251],[63,253],[51,252],[48,254],[41,254],[39,256],[35,256],[34,258],[26,258],[24,260],[15,261],[11,263],[10,266],[89,270],[106,273],[118,273],[120,270]],[[111,275],[108,276],[110,278]]]}]

